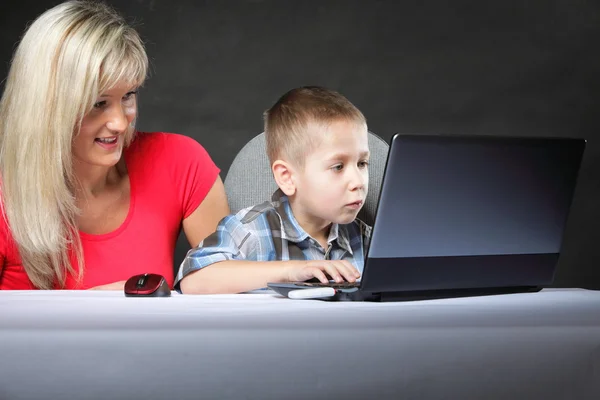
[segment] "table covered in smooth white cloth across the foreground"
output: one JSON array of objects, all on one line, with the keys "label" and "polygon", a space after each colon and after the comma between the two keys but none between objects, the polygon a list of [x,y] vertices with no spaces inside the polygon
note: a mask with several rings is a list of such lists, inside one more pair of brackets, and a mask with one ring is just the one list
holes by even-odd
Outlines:
[{"label": "table covered in smooth white cloth across the foreground", "polygon": [[0,399],[600,399],[600,292],[0,292]]}]

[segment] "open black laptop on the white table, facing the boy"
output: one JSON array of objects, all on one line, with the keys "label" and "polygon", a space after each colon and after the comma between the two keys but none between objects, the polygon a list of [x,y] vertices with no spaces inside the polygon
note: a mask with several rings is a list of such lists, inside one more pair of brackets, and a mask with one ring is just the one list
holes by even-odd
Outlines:
[{"label": "open black laptop on the white table, facing the boy", "polygon": [[354,301],[539,291],[554,278],[585,144],[396,134],[360,281],[268,287]]}]

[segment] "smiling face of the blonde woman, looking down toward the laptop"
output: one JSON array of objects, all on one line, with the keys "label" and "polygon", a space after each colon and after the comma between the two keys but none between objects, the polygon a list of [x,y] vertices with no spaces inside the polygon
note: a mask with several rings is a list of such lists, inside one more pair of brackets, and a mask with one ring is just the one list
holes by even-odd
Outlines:
[{"label": "smiling face of the blonde woman, looking down toward the laptop", "polygon": [[119,83],[102,93],[73,139],[74,157],[90,166],[115,165],[136,115],[137,88]]}]

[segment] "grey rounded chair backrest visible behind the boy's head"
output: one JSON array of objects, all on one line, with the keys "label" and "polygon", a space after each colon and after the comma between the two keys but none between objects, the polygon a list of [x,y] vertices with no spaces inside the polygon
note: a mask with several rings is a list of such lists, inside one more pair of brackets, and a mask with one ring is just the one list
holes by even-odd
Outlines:
[{"label": "grey rounded chair backrest visible behind the boy's head", "polygon": [[[358,218],[373,226],[389,145],[369,132],[369,150],[369,193]],[[237,213],[243,208],[270,201],[275,190],[277,185],[269,165],[263,132],[246,143],[235,156],[225,177],[225,192],[231,212]]]}]

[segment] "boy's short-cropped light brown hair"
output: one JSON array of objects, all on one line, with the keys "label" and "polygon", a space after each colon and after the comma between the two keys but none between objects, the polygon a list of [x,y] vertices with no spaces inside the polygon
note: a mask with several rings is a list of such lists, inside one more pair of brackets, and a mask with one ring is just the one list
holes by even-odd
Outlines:
[{"label": "boy's short-cropped light brown hair", "polygon": [[[318,132],[336,121],[365,126],[364,115],[336,91],[319,86],[292,89],[264,113],[267,155],[271,165],[283,159],[304,167],[306,155],[319,142]],[[317,134],[315,134],[317,133]]]}]

